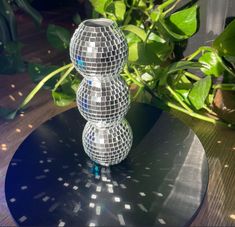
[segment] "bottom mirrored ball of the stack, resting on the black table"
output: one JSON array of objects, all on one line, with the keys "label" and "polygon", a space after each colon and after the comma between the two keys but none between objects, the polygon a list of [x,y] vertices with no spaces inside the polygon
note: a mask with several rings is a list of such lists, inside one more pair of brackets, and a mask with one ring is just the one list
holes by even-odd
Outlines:
[{"label": "bottom mirrored ball of the stack, resting on the black table", "polygon": [[118,164],[125,159],[132,140],[132,130],[126,120],[110,127],[97,127],[87,122],[82,135],[87,155],[104,166]]}]

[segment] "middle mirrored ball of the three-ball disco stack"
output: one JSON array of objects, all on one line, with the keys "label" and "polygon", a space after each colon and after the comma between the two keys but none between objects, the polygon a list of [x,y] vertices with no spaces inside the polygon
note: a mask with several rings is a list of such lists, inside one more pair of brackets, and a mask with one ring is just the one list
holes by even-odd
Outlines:
[{"label": "middle mirrored ball of the three-ball disco stack", "polygon": [[128,86],[119,77],[108,81],[84,79],[77,91],[80,113],[96,124],[116,124],[127,114],[129,104]]}]

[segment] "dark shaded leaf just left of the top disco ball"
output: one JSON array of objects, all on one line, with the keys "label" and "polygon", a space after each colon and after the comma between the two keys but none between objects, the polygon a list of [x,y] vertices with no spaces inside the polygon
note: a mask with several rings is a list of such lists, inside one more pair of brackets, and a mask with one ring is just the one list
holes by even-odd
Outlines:
[{"label": "dark shaded leaf just left of the top disco ball", "polygon": [[47,39],[54,48],[58,50],[68,49],[70,38],[69,30],[54,24],[48,25]]}]

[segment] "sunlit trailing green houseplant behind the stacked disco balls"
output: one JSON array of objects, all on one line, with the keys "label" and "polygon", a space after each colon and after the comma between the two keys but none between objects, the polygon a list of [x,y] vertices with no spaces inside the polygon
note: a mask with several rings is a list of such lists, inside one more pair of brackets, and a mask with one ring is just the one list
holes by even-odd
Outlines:
[{"label": "sunlit trailing green houseplant behind the stacked disco balls", "polygon": [[[218,119],[212,103],[216,89],[235,90],[232,83],[235,77],[235,20],[214,40],[212,46],[202,46],[191,55],[178,59],[176,46],[193,36],[198,27],[196,4],[187,4],[173,12],[180,1],[166,0],[156,6],[154,0],[90,2],[94,15],[98,13],[115,20],[126,35],[129,57],[121,75],[132,88],[133,101],[175,109],[207,122],[231,127],[229,122]],[[70,36],[66,29],[51,25],[47,36],[54,47],[68,48]],[[74,102],[80,79],[73,69],[71,63],[57,69],[30,65],[31,75],[34,78],[38,76],[40,82],[16,110],[2,108],[2,116],[13,118],[48,82],[53,84],[52,96],[57,105]],[[195,70],[203,72],[203,76],[196,75]],[[49,74],[45,76],[44,72]],[[215,84],[215,78],[222,74],[230,78],[230,83]],[[53,83],[52,78],[56,78]]]}]

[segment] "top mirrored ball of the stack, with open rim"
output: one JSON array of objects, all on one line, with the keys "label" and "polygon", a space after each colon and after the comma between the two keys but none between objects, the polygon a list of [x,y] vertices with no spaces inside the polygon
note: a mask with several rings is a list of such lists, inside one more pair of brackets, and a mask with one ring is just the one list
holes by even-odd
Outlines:
[{"label": "top mirrored ball of the stack, with open rim", "polygon": [[70,58],[87,79],[106,79],[120,73],[128,46],[116,23],[109,19],[82,22],[70,42]]}]

